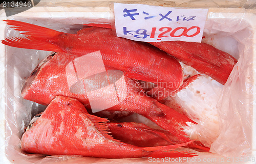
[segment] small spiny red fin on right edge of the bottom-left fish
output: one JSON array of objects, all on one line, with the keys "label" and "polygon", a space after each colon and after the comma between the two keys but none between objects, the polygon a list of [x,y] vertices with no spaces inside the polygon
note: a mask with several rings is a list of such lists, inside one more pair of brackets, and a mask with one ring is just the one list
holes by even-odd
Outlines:
[{"label": "small spiny red fin on right edge of the bottom-left fish", "polygon": [[105,136],[105,138],[119,142],[119,140],[114,139],[112,135],[109,134],[110,131],[108,126],[106,125],[106,123],[109,122],[109,120],[90,114],[87,114],[87,117],[93,122],[94,126],[100,131],[101,134]]}]

